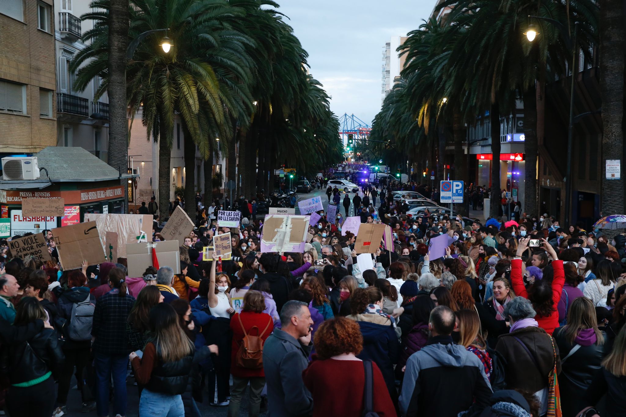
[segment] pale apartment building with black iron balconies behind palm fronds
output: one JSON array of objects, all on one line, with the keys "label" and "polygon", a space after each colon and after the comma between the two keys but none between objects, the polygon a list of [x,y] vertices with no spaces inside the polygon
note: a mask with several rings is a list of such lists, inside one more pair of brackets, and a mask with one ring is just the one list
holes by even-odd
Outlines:
[{"label": "pale apartment building with black iron balconies behind palm fronds", "polygon": [[80,16],[92,10],[90,1],[54,0],[54,9],[58,11],[54,18],[58,113],[55,144],[59,147],[84,148],[107,162],[108,97],[105,93],[95,100],[101,80],[96,77],[85,91],[78,91],[75,87],[76,75],[69,71],[71,60],[85,48],[81,36],[93,28],[91,20],[80,19]]}]

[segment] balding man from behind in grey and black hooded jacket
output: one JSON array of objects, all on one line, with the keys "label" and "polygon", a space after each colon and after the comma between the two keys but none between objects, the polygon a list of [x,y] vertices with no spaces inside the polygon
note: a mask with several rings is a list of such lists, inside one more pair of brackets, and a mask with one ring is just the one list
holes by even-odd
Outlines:
[{"label": "balding man from behind in grey and black hooded jacket", "polygon": [[478,356],[453,342],[451,334],[457,326],[448,307],[431,311],[431,337],[406,361],[399,398],[401,415],[456,416],[473,403],[483,408],[488,405],[491,384],[485,366]]}]

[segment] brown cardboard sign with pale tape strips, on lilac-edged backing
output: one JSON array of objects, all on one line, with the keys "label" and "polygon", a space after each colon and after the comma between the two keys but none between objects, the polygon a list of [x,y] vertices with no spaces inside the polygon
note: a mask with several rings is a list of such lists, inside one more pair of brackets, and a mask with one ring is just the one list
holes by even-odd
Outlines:
[{"label": "brown cardboard sign with pale tape strips, on lilac-edged backing", "polygon": [[261,252],[304,253],[309,216],[265,215]]}]

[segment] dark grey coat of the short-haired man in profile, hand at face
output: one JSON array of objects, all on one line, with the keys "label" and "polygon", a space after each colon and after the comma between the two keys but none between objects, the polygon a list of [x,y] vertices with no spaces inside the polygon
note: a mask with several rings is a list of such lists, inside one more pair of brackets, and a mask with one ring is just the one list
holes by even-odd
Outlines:
[{"label": "dark grey coat of the short-haired man in profile, hand at face", "polygon": [[313,397],[304,386],[302,371],[309,366],[312,346],[302,346],[290,334],[274,329],[263,346],[263,369],[267,384],[267,415],[309,416]]}]

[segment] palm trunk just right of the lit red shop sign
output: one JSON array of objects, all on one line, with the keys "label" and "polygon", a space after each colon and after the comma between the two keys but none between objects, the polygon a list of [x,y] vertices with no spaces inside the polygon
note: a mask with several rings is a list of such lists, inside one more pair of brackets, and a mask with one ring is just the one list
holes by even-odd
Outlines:
[{"label": "palm trunk just right of the lit red shop sign", "polygon": [[[524,93],[524,152],[526,153],[526,175],[524,206],[528,214],[537,213],[537,94],[536,85]],[[570,181],[570,178],[567,178]],[[567,207],[566,207],[567,209]]]}]

